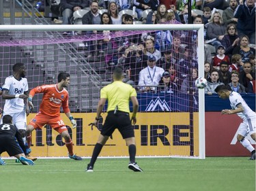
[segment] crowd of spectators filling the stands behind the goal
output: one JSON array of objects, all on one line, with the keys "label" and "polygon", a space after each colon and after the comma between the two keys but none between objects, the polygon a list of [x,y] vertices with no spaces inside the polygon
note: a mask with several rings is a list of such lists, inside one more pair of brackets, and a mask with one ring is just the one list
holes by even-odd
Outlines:
[{"label": "crowd of spectators filling the stands behind the goal", "polygon": [[[205,78],[209,82],[205,93],[216,93],[210,90],[222,83],[236,92],[255,93],[255,0],[228,2],[191,1],[193,23],[204,24],[205,29]],[[187,0],[61,0],[60,7],[62,24],[76,24],[73,13],[82,9],[87,10],[83,24],[187,24],[189,20]],[[100,62],[107,72],[122,67],[126,82],[139,86],[138,91],[188,92],[187,86],[195,86],[196,31],[86,33],[103,35],[98,41],[85,42],[88,62],[93,65],[94,58],[102,56]]]}]

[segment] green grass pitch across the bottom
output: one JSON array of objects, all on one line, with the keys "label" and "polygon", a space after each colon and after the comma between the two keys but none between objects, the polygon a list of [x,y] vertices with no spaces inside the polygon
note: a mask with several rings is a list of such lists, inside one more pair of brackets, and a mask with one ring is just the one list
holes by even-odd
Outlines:
[{"label": "green grass pitch across the bottom", "polygon": [[1,191],[255,191],[255,160],[248,157],[137,158],[143,173],[130,171],[128,158],[99,158],[94,173],[85,172],[89,159],[39,158],[35,166],[5,162],[0,166]]}]

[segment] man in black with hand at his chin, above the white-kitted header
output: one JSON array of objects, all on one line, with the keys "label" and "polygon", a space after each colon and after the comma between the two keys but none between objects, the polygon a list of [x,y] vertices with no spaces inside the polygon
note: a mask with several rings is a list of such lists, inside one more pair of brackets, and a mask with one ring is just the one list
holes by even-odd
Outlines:
[{"label": "man in black with hand at his chin, above the white-kitted header", "polygon": [[244,85],[245,91],[249,92],[249,84],[251,81],[255,80],[255,73],[251,69],[252,65],[250,62],[246,61],[244,63],[243,71],[240,71],[240,80],[239,82]]}]

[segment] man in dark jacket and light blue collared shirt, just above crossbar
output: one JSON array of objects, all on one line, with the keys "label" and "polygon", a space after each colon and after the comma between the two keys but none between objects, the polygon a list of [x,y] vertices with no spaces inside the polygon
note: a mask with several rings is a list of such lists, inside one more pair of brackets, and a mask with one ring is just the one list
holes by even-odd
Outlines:
[{"label": "man in dark jacket and light blue collared shirt, just above crossbar", "polygon": [[[83,24],[100,24],[101,20],[101,14],[98,13],[98,1],[94,0],[91,2],[90,5],[90,11],[87,12],[82,18]],[[88,35],[96,34],[97,31],[88,31]],[[89,41],[88,42],[89,46],[89,55],[87,58],[90,58],[91,56],[94,56],[96,54],[95,52],[95,42],[94,41]]]}]

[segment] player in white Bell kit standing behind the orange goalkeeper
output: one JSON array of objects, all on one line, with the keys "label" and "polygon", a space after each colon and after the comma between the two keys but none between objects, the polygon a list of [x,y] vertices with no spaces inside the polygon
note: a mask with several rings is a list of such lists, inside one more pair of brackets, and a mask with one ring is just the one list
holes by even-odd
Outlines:
[{"label": "player in white Bell kit standing behind the orange goalkeeper", "polygon": [[23,63],[16,63],[12,70],[13,75],[6,77],[5,84],[2,86],[2,97],[5,99],[3,116],[12,116],[12,122],[18,128],[25,143],[27,115],[29,115],[29,106],[31,106],[27,101],[29,95],[29,86],[25,78],[27,71]]}]

